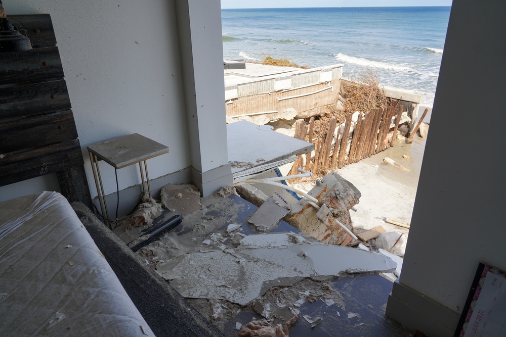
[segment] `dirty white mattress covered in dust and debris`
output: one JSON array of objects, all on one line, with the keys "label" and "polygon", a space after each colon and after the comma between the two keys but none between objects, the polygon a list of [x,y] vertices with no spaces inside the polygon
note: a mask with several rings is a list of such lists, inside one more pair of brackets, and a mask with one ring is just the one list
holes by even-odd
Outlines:
[{"label": "dirty white mattress covered in dust and debris", "polygon": [[0,335],[153,335],[57,192],[0,203]]}]

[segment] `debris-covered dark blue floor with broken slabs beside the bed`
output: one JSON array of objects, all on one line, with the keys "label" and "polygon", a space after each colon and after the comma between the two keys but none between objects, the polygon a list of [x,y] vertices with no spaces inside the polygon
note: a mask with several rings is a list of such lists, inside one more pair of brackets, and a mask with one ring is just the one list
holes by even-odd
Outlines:
[{"label": "debris-covered dark blue floor with broken slabs beside the bed", "polygon": [[[275,327],[294,315],[290,336],[409,335],[385,316],[392,281],[378,273],[395,263],[323,245],[283,221],[262,234],[248,222],[257,209],[234,194],[207,197],[137,254],[227,336],[252,320]],[[125,243],[144,228],[124,227],[115,232]]]}]

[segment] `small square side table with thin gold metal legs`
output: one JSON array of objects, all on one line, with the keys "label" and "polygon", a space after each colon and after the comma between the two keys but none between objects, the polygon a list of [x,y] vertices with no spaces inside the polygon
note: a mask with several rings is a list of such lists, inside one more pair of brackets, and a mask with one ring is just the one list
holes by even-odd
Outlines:
[{"label": "small square side table with thin gold metal legs", "polygon": [[[146,161],[150,158],[168,153],[168,147],[143,135],[133,133],[127,136],[107,140],[102,143],[90,145],[87,148],[90,154],[93,177],[95,178],[95,185],[97,187],[97,194],[100,202],[100,209],[102,210],[104,224],[109,225],[109,229],[112,229],[110,221],[111,218],[109,216],[109,209],[107,208],[104,185],[102,184],[102,176],[100,175],[98,162],[100,160],[103,160],[109,165],[113,166],[115,169],[120,169],[138,163],[139,169],[141,171],[142,189],[144,191],[144,195],[146,194],[147,185],[147,192],[151,197],[148,165]],[[143,162],[144,169],[142,165]],[[144,177],[144,170],[146,171],[146,177]]]}]

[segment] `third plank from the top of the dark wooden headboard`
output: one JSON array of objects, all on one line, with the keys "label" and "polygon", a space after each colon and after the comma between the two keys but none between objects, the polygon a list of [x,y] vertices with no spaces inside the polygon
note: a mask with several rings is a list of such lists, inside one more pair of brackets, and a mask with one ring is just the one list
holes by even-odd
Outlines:
[{"label": "third plank from the top of the dark wooden headboard", "polygon": [[65,80],[13,85],[0,90],[0,118],[70,110]]}]

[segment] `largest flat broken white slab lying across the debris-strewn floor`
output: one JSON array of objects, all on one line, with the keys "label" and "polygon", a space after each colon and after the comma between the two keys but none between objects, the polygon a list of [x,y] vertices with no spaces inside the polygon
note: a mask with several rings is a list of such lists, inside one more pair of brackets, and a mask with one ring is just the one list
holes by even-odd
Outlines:
[{"label": "largest flat broken white slab lying across the debris-strewn floor", "polygon": [[381,254],[301,243],[190,253],[160,263],[156,269],[183,297],[227,300],[246,306],[263,295],[263,289],[267,291],[263,288],[265,282],[279,278],[390,272],[395,267],[395,262]]}]

